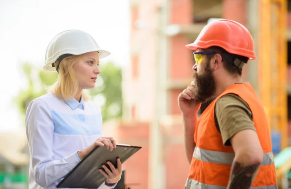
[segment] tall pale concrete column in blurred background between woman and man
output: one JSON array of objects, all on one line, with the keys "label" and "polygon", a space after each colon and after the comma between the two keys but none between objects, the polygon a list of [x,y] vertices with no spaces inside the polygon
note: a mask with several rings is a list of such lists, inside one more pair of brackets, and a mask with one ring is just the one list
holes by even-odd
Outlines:
[{"label": "tall pale concrete column in blurred background between woman and man", "polygon": [[165,189],[165,165],[163,160],[162,127],[160,119],[166,114],[166,55],[167,38],[164,28],[167,24],[167,0],[160,0],[157,7],[156,45],[157,51],[155,64],[155,104],[153,120],[149,128],[149,184],[148,189]]}]

